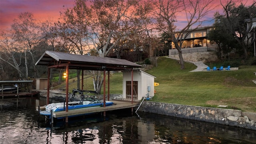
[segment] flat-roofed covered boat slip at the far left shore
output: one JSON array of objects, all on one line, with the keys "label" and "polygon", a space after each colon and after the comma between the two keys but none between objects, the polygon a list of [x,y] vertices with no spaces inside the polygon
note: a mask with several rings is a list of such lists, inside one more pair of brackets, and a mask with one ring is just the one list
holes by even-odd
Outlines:
[{"label": "flat-roofed covered boat slip at the far left shore", "polygon": [[[2,80],[0,81],[0,96],[4,97],[14,97],[14,96],[33,96],[38,94],[38,92],[32,91],[31,84],[33,80]],[[20,84],[29,84],[29,90],[26,92],[20,92]]]}]

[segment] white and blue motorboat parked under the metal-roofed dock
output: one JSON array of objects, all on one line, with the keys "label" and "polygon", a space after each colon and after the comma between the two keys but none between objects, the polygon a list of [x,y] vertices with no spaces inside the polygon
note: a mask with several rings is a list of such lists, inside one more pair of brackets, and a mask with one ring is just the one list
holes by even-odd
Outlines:
[{"label": "white and blue motorboat parked under the metal-roofed dock", "polygon": [[[69,102],[68,102],[68,110],[95,108],[95,107],[102,107],[104,105],[102,100],[98,100],[94,96],[88,96],[88,94],[90,93],[95,93],[94,91],[73,89],[72,93],[73,94],[69,98]],[[80,95],[80,100],[73,101],[74,97],[76,96],[76,93]],[[86,93],[86,95],[84,95],[84,93]],[[113,102],[110,102],[110,101],[105,102],[105,106],[111,106],[111,105],[113,105]],[[51,110],[52,112],[65,111],[66,105],[64,105],[64,102],[48,104],[44,111],[40,111],[40,114],[50,118]],[[78,115],[75,115],[75,116],[78,116]]]}]

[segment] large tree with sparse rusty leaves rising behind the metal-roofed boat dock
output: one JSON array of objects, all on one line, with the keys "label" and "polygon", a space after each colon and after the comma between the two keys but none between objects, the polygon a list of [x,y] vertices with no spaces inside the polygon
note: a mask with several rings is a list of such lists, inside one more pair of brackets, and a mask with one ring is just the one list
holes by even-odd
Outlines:
[{"label": "large tree with sparse rusty leaves rising behind the metal-roofed boat dock", "polygon": [[[96,50],[105,57],[124,36],[136,34],[146,19],[141,0],[92,0],[90,7],[86,0],[76,0],[74,8],[62,13],[58,26],[59,34],[72,47],[69,52],[84,54],[85,49]],[[94,90],[101,91],[102,72],[93,72]]]}]

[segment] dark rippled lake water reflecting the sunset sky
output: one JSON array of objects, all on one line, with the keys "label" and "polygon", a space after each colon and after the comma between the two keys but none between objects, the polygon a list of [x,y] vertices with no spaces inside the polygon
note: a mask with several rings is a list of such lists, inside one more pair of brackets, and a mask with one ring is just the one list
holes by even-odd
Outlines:
[{"label": "dark rippled lake water reflecting the sunset sky", "polygon": [[128,110],[50,124],[44,98],[0,99],[0,144],[256,144],[256,131]]}]

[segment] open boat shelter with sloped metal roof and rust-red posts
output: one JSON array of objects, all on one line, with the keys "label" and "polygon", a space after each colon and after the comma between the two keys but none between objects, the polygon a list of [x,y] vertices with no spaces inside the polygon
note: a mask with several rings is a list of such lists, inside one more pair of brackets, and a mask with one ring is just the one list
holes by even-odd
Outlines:
[{"label": "open boat shelter with sloped metal roof and rust-red posts", "polygon": [[[68,107],[68,72],[69,69],[82,70],[82,87],[83,87],[83,70],[99,70],[103,71],[103,109],[100,111],[111,110],[105,107],[106,102],[106,71],[108,71],[108,79],[110,78],[110,71],[120,71],[120,70],[130,70],[131,71],[131,82],[133,83],[133,70],[134,68],[142,67],[139,64],[130,62],[128,60],[116,59],[116,58],[102,58],[98,56],[88,56],[88,55],[78,55],[78,54],[68,54],[63,52],[52,52],[46,51],[36,62],[36,65],[47,66],[48,67],[48,84],[47,84],[47,104],[49,104],[50,95],[50,68],[61,68],[66,70],[66,107]],[[108,80],[108,100],[109,100],[109,80]],[[131,90],[131,95],[133,96],[133,90]],[[133,104],[133,97],[130,101]],[[133,108],[134,106],[130,107]],[[121,109],[122,106],[119,108]],[[90,108],[94,109],[94,108]],[[98,108],[96,108],[98,109]],[[68,122],[68,115],[74,114],[75,110],[68,111],[66,108],[66,122]],[[76,110],[77,111],[77,110]],[[78,110],[79,111],[79,110]],[[97,111],[97,110],[96,110]],[[65,115],[65,112],[62,112]],[[104,113],[105,115],[105,113]]]}]

